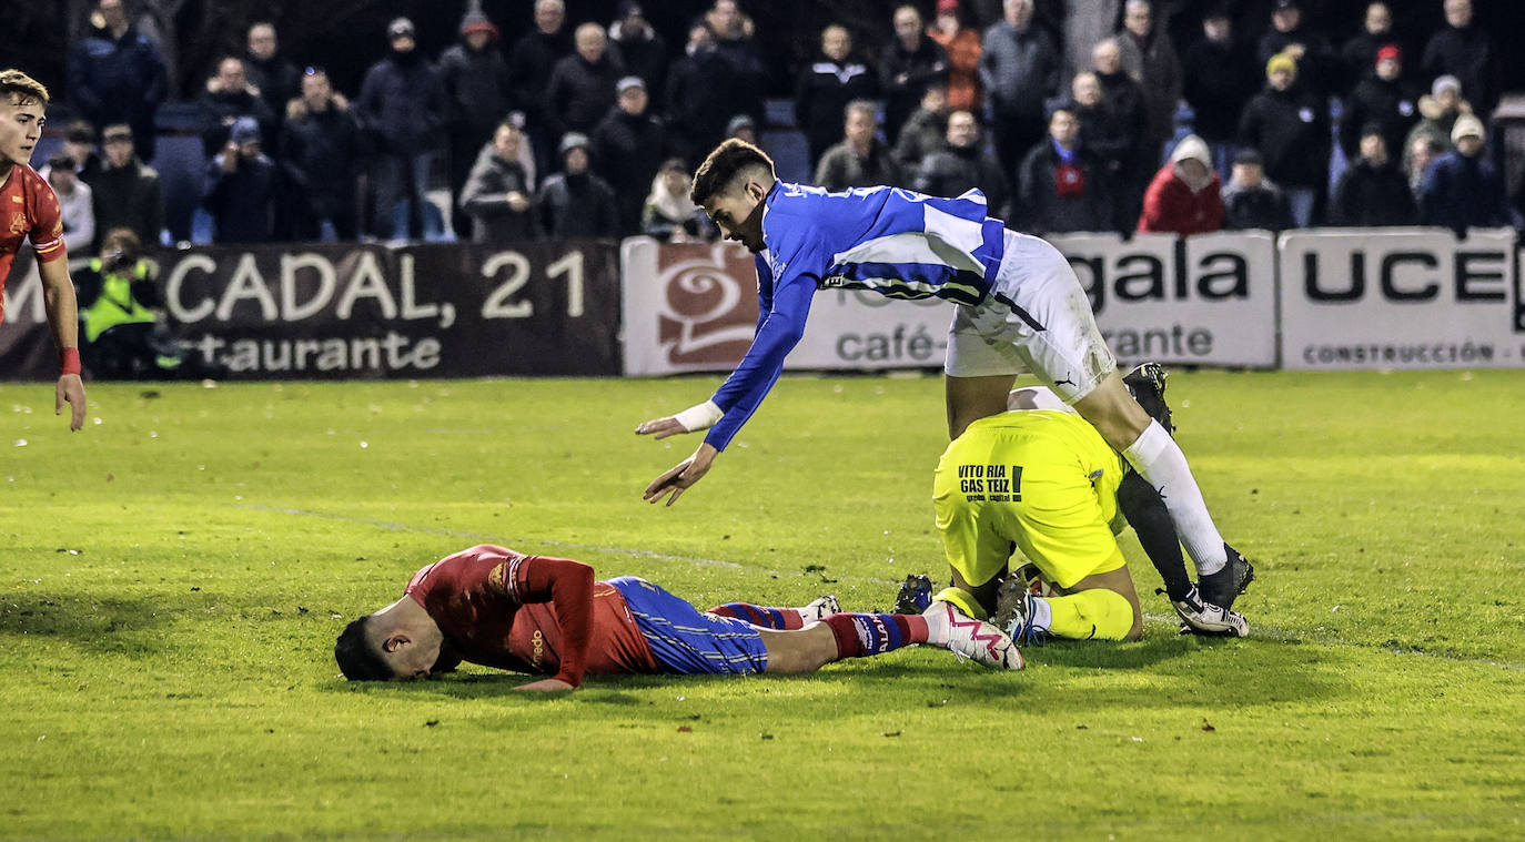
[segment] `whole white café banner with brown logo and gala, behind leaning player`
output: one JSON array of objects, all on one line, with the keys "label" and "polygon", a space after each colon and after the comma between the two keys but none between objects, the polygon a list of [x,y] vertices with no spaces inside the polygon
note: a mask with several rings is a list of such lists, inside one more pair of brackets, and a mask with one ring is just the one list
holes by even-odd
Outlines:
[{"label": "whole white caf\u00e9 banner with brown logo and gala, behind leaning player", "polygon": [[[1057,236],[1122,362],[1276,365],[1275,243],[1266,232]],[[730,371],[756,329],[756,268],[732,244],[622,250],[624,371]],[[941,366],[953,305],[865,290],[816,294],[791,369]]]}]

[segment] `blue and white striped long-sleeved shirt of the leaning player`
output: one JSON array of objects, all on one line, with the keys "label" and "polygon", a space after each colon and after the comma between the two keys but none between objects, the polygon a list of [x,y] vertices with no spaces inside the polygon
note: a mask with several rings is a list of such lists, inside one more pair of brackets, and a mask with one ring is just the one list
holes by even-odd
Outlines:
[{"label": "blue and white striped long-sleeved shirt of the leaning player", "polygon": [[974,305],[1000,268],[1005,226],[985,197],[933,198],[900,188],[822,188],[778,182],[762,209],[758,329],[715,397],[724,415],[705,436],[724,450],[767,397],[784,357],[805,334],[816,290],[874,290]]}]

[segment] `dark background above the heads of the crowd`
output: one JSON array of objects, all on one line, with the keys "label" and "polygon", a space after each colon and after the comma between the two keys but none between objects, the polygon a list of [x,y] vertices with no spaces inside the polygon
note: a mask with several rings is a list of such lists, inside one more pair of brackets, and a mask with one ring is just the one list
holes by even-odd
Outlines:
[{"label": "dark background above the heads of the crowd", "polygon": [[[1171,31],[1177,49],[1185,49],[1200,34],[1200,15],[1222,0],[1159,0],[1156,8],[1177,14]],[[567,23],[610,23],[618,0],[569,0]],[[770,67],[769,96],[788,96],[799,63],[814,52],[816,37],[830,21],[849,24],[860,46],[877,49],[891,37],[891,12],[897,2],[884,0],[743,0],[741,8],[756,23],[758,44]],[[917,3],[930,12],[932,0]],[[965,8],[990,20],[999,15],[1000,0],[965,0]],[[1365,0],[1302,0],[1310,23],[1336,44],[1353,35],[1365,12]],[[92,0],[47,0],[43,3],[6,0],[5,26],[0,27],[0,64],[21,67],[56,92],[64,90],[69,44],[82,32]],[[223,53],[241,55],[244,34],[252,21],[276,24],[282,49],[299,66],[323,66],[339,88],[354,93],[366,67],[386,50],[383,32],[396,15],[409,15],[418,26],[419,46],[436,56],[456,38],[456,26],[467,0],[136,0],[131,8],[149,9],[165,21],[162,40],[172,64],[177,99],[194,99]],[[682,49],[685,26],[711,6],[711,0],[654,0],[644,5],[648,20],[676,52]],[[1272,0],[1231,0],[1241,37],[1258,38],[1270,21]],[[1389,0],[1398,34],[1411,56],[1423,49],[1424,38],[1443,26],[1441,0]],[[482,0],[483,11],[503,31],[511,44],[531,24],[531,0]],[[1511,32],[1525,32],[1525,2],[1476,0],[1479,23],[1505,41]],[[1037,0],[1039,17],[1058,26],[1063,0]],[[1501,44],[1505,90],[1525,90],[1525,52]],[[59,122],[55,117],[55,124]]]}]

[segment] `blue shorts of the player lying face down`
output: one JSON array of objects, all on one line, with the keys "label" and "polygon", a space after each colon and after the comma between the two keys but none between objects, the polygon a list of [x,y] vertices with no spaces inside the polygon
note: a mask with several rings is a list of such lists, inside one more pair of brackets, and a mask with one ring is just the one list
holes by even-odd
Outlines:
[{"label": "blue shorts of the player lying face down", "polygon": [[625,596],[636,627],[663,673],[717,676],[767,668],[767,648],[755,625],[703,613],[639,577],[619,577],[608,584]]}]

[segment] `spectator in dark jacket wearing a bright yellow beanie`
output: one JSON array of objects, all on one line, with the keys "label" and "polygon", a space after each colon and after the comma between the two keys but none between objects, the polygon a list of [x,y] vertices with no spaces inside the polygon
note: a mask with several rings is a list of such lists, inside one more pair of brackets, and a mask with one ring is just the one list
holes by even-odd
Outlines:
[{"label": "spectator in dark jacket wearing a bright yellow beanie", "polygon": [[1298,227],[1308,227],[1328,183],[1328,114],[1321,98],[1295,85],[1298,63],[1290,55],[1273,55],[1266,76],[1264,90],[1244,105],[1238,142],[1260,151],[1266,175],[1287,191]]}]

